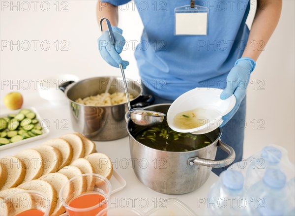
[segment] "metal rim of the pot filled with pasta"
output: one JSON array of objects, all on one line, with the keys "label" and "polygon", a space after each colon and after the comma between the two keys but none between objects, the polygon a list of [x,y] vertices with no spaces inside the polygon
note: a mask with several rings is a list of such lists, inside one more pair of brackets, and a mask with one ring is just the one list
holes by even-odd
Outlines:
[{"label": "metal rim of the pot filled with pasta", "polygon": [[[91,79],[95,79],[95,78],[114,78],[114,79],[121,79],[122,80],[122,77],[120,76],[97,76],[97,77],[90,77],[90,78],[87,78],[87,79],[83,79],[83,80],[79,80],[78,82],[74,82],[70,85],[67,86],[67,89],[64,91],[64,94],[66,96],[66,98],[71,102],[71,103],[74,103],[74,104],[77,104],[79,106],[84,106],[84,107],[101,107],[101,108],[108,108],[108,107],[116,107],[116,106],[121,106],[121,105],[127,105],[127,102],[125,103],[120,103],[120,104],[115,104],[115,105],[107,105],[107,106],[90,106],[90,105],[85,105],[85,104],[82,104],[82,103],[77,103],[75,101],[73,101],[72,99],[69,98],[69,96],[67,95],[68,91],[73,88],[75,85],[78,85],[79,83],[82,83],[82,82],[86,82],[88,80],[91,80]],[[128,82],[130,79],[126,78],[126,81]],[[140,93],[134,97],[133,99],[130,100],[133,101],[135,99],[137,99],[140,95],[142,95],[143,93],[143,89],[141,88],[141,86],[139,85],[138,82],[134,82],[135,85],[137,85],[139,88],[140,88]]]}]

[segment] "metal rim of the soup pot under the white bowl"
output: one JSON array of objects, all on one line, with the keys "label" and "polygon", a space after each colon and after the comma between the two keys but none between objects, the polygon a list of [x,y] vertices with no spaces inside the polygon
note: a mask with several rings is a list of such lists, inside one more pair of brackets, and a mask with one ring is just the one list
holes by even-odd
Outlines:
[{"label": "metal rim of the soup pot under the white bowl", "polygon": [[[159,104],[153,104],[153,105],[149,105],[149,106],[146,106],[146,107],[143,107],[143,109],[149,109],[149,108],[152,108],[152,107],[156,107],[156,106],[167,106],[167,105],[171,105],[171,103],[159,103]],[[154,151],[160,151],[160,152],[163,152],[163,153],[177,153],[177,154],[179,154],[179,153],[183,153],[183,154],[185,154],[185,153],[194,153],[194,152],[198,152],[198,151],[201,151],[201,150],[203,150],[203,149],[206,149],[206,148],[209,148],[210,146],[212,146],[212,145],[214,145],[216,142],[218,142],[218,140],[220,139],[220,137],[221,137],[221,135],[222,135],[222,127],[218,127],[218,128],[216,128],[215,130],[217,130],[217,129],[219,129],[219,135],[217,136],[217,138],[211,143],[211,144],[209,144],[209,145],[207,145],[207,146],[205,146],[205,147],[203,147],[203,148],[201,148],[201,149],[196,149],[196,150],[192,150],[192,151],[187,151],[187,152],[171,152],[171,151],[163,151],[163,150],[159,150],[159,149],[154,149],[154,148],[151,148],[151,147],[148,147],[148,146],[146,146],[146,145],[144,145],[144,144],[142,144],[141,142],[139,142],[137,139],[135,139],[133,136],[132,136],[132,134],[130,133],[130,131],[129,131],[129,123],[130,123],[130,117],[128,118],[128,121],[127,121],[127,124],[126,124],[126,129],[127,129],[127,131],[128,131],[128,134],[129,134],[129,138],[131,137],[134,141],[136,141],[137,143],[139,143],[140,145],[142,145],[142,146],[144,146],[144,147],[146,147],[146,148],[149,148],[149,149],[151,149],[151,150],[154,150]],[[171,128],[170,128],[171,129]],[[213,130],[214,131],[214,130]],[[212,132],[212,131],[211,131]],[[210,133],[210,132],[209,132]],[[206,135],[206,133],[204,134],[204,135]]]}]

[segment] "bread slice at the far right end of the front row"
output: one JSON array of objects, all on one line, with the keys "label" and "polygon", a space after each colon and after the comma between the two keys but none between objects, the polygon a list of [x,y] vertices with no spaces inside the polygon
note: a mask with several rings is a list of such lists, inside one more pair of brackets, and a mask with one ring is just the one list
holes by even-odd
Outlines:
[{"label": "bread slice at the far right end of the front row", "polygon": [[111,159],[102,153],[92,153],[85,157],[94,168],[96,174],[100,174],[106,177],[108,180],[111,179],[113,173],[113,164]]}]

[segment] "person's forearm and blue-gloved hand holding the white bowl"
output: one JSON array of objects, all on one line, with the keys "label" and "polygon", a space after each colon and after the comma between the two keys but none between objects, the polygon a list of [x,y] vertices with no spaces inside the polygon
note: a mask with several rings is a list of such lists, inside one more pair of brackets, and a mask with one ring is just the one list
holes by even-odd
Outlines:
[{"label": "person's forearm and blue-gloved hand holding the white bowl", "polygon": [[258,8],[249,34],[247,47],[241,59],[238,59],[235,66],[227,76],[227,86],[220,94],[221,99],[227,99],[232,94],[236,97],[235,107],[222,117],[224,126],[233,118],[240,103],[246,95],[246,88],[250,80],[250,74],[254,70],[256,61],[266,46],[268,39],[278,24],[282,0],[257,0]]}]

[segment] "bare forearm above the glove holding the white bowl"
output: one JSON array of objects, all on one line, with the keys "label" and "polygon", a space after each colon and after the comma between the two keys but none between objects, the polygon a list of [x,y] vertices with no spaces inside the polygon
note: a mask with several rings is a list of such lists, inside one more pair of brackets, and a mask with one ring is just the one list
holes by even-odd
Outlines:
[{"label": "bare forearm above the glove holding the white bowl", "polygon": [[282,11],[282,0],[257,0],[257,10],[242,57],[257,61],[275,30]]}]

